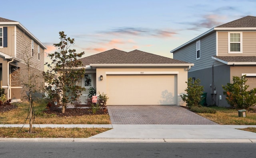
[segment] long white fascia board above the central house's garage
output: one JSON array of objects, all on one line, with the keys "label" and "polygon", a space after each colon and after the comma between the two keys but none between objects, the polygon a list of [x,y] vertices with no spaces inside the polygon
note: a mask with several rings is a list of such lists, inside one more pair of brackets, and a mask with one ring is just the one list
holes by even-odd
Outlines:
[{"label": "long white fascia board above the central house's garage", "polygon": [[92,67],[169,67],[194,66],[194,64],[90,64]]}]

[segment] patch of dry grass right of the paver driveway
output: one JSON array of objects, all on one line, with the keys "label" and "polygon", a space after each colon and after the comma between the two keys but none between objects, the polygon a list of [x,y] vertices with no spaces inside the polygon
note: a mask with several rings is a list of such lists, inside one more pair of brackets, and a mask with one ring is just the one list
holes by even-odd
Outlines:
[{"label": "patch of dry grass right of the paver driveway", "polygon": [[247,117],[238,117],[236,109],[225,107],[211,107],[217,110],[216,113],[198,113],[220,125],[256,125],[256,113],[248,112]]}]

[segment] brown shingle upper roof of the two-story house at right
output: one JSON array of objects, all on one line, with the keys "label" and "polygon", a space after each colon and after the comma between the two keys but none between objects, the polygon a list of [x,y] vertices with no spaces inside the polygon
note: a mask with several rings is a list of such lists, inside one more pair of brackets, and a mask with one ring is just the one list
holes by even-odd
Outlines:
[{"label": "brown shingle upper roof of the two-story house at right", "polygon": [[256,27],[256,17],[255,16],[246,16],[238,20],[234,20],[228,23],[224,23],[217,27]]}]

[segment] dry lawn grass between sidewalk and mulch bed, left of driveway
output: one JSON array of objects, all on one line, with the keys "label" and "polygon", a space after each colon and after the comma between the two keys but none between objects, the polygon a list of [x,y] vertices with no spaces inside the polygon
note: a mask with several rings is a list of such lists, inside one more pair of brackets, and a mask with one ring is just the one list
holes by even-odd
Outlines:
[{"label": "dry lawn grass between sidewalk and mulch bed, left of driveway", "polygon": [[[18,108],[11,111],[0,113],[0,124],[28,124],[28,105],[26,103],[17,103]],[[104,115],[83,115],[73,117],[59,117],[55,114],[46,114],[44,101],[34,103],[36,124],[111,124],[108,114]]]}]

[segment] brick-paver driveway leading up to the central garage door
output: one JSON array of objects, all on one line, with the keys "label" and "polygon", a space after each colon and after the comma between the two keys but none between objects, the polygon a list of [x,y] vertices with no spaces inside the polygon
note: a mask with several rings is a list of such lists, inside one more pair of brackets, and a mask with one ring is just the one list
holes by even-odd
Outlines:
[{"label": "brick-paver driveway leading up to the central garage door", "polygon": [[112,124],[216,125],[177,105],[108,105]]}]

